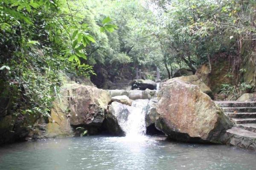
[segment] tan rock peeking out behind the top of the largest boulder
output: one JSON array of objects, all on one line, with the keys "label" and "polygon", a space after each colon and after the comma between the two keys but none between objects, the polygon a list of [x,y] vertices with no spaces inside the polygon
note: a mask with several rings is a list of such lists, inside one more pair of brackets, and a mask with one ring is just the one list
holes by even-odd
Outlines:
[{"label": "tan rock peeking out behind the top of the largest boulder", "polygon": [[169,79],[168,82],[173,80],[180,80],[183,82],[191,83],[193,85],[197,85],[202,92],[210,96],[212,99],[214,98],[211,89],[206,84],[204,84],[204,82],[196,75],[176,77]]}]

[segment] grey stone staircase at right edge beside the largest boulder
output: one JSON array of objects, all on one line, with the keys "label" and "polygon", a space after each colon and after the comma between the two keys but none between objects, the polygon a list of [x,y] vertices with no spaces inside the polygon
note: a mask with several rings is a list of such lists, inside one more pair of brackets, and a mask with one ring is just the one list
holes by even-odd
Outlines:
[{"label": "grey stone staircase at right edge beside the largest boulder", "polygon": [[235,123],[227,130],[229,144],[256,150],[256,102],[215,102]]}]

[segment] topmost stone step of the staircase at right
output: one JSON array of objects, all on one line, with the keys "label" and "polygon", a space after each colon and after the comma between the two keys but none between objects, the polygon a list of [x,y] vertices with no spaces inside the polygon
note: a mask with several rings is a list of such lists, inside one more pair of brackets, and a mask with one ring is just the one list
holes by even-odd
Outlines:
[{"label": "topmost stone step of the staircase at right", "polygon": [[219,107],[256,107],[256,102],[215,101]]}]

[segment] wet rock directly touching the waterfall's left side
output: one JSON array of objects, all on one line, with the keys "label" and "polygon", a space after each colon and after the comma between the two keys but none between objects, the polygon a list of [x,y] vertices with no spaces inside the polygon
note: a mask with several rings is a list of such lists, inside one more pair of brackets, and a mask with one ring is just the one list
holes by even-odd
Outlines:
[{"label": "wet rock directly touching the waterfall's left side", "polygon": [[108,131],[116,136],[125,136],[122,125],[127,121],[129,110],[127,105],[112,102],[106,115],[106,127]]}]

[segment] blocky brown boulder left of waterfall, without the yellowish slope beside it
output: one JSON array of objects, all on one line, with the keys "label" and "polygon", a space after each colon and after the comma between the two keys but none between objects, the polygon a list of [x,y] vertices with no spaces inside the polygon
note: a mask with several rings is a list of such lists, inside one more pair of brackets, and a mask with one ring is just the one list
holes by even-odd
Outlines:
[{"label": "blocky brown boulder left of waterfall, without the yellowish slope beside it", "polygon": [[68,90],[70,125],[100,127],[105,118],[110,93],[96,87],[74,84]]}]

